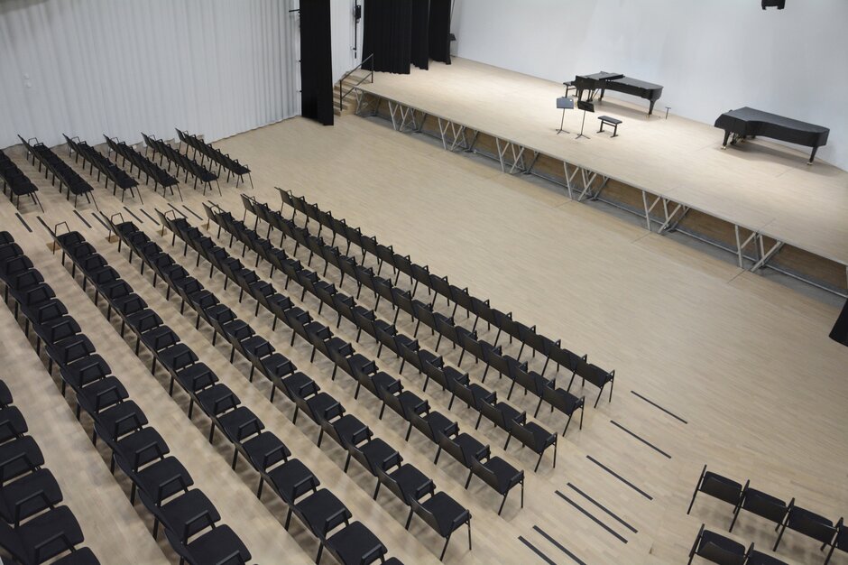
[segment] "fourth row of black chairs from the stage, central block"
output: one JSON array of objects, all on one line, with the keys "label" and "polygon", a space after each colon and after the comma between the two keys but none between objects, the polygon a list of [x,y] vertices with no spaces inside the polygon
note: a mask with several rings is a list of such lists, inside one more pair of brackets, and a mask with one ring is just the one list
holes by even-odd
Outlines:
[{"label": "fourth row of black chairs from the stage, central block", "polygon": [[[397,412],[401,418],[408,421],[406,440],[409,440],[413,427],[421,431],[425,437],[438,445],[437,461],[441,449],[447,449],[452,455],[456,456],[457,449],[461,444],[477,446],[473,453],[479,457],[463,456],[457,458],[466,468],[470,469],[469,476],[465,481],[466,488],[472,477],[482,478],[486,484],[492,486],[496,492],[503,496],[501,510],[506,496],[513,486],[521,485],[523,492],[523,473],[521,471],[512,468],[501,458],[490,457],[488,446],[484,446],[468,434],[460,434],[459,426],[455,421],[448,420],[447,417],[438,412],[431,412],[429,403],[415,394],[403,390],[400,381],[379,371],[373,361],[356,353],[354,348],[346,341],[333,336],[332,330],[312,320],[309,312],[291,305],[290,300],[286,297],[283,297],[283,299],[287,301],[288,308],[281,313],[275,312],[275,308],[270,304],[280,302],[279,298],[274,297],[280,297],[281,294],[274,291],[272,285],[258,281],[258,278],[254,279],[255,273],[241,266],[238,260],[229,257],[225,250],[217,247],[207,236],[202,236],[199,230],[196,227],[191,227],[184,218],[171,219],[161,215],[161,221],[163,226],[171,228],[174,232],[174,240],[180,234],[180,238],[186,242],[185,249],[188,249],[191,245],[193,249],[197,250],[198,258],[199,256],[206,257],[213,267],[217,266],[225,275],[227,272],[234,272],[235,269],[235,273],[238,274],[226,276],[225,288],[226,282],[229,280],[236,281],[242,287],[242,292],[246,288],[251,296],[274,313],[274,326],[276,320],[284,320],[284,323],[290,326],[292,329],[292,344],[295,337],[300,336],[312,345],[313,357],[318,350],[334,363],[334,379],[336,369],[341,366],[343,371],[354,378],[356,382],[355,398],[358,398],[359,390],[364,386],[383,403],[380,412],[381,419],[383,419],[385,407],[388,405],[393,412]],[[245,285],[245,280],[255,280],[256,282]],[[252,287],[255,288],[259,285],[265,289],[264,292],[267,292],[267,294],[251,290]],[[480,465],[477,465],[478,463]],[[523,495],[521,498],[523,505]],[[499,513],[501,510],[499,510]]]}]

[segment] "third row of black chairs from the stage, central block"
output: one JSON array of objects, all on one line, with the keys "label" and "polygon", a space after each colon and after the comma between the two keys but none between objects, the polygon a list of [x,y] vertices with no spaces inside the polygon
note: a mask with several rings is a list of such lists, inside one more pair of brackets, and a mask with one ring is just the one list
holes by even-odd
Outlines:
[{"label": "third row of black chairs from the stage, central block", "polygon": [[[232,245],[233,239],[237,237],[244,244],[244,249],[249,246],[257,254],[257,262],[259,259],[265,259],[272,264],[272,268],[275,265],[279,265],[280,271],[289,277],[286,283],[287,287],[288,282],[292,280],[298,282],[303,288],[300,297],[301,301],[306,295],[306,292],[310,292],[320,302],[318,313],[320,313],[324,304],[328,304],[336,310],[336,327],[338,327],[341,318],[344,316],[347,320],[355,324],[358,332],[364,329],[372,335],[376,342],[380,344],[377,350],[377,358],[380,357],[383,345],[391,349],[397,357],[402,359],[401,375],[403,374],[403,366],[406,363],[410,363],[410,365],[419,370],[419,374],[427,375],[424,383],[425,391],[429,380],[432,378],[442,385],[443,390],[447,389],[451,393],[448,410],[453,406],[453,401],[456,397],[459,397],[465,402],[468,408],[478,412],[476,427],[479,428],[482,417],[486,415],[488,419],[493,421],[495,426],[507,432],[508,437],[503,449],[509,447],[509,443],[514,436],[521,441],[522,446],[530,447],[530,449],[533,449],[539,454],[539,460],[536,463],[535,470],[538,470],[545,450],[552,445],[554,447],[554,465],[556,466],[556,434],[550,433],[536,422],[527,421],[526,414],[519,412],[510,404],[498,402],[497,395],[486,390],[481,384],[470,383],[467,373],[463,374],[452,366],[446,365],[442,357],[433,354],[428,349],[420,347],[417,339],[409,338],[402,334],[398,331],[395,324],[390,325],[383,320],[379,320],[375,311],[358,306],[353,297],[336,290],[334,284],[321,281],[318,273],[311,272],[299,262],[290,260],[284,251],[276,249],[271,242],[258,236],[252,229],[246,227],[244,222],[236,220],[228,212],[213,211],[206,204],[204,204],[204,208],[207,212],[207,217],[220,226],[219,231],[221,228],[224,228],[231,234],[230,245]],[[339,256],[337,255],[337,250],[335,250],[336,255],[333,255],[334,250],[326,245],[325,247],[325,252],[328,255]],[[320,252],[321,249],[318,249],[318,251]],[[512,394],[512,390],[510,393]],[[539,407],[537,406],[537,413],[538,411]]]}]

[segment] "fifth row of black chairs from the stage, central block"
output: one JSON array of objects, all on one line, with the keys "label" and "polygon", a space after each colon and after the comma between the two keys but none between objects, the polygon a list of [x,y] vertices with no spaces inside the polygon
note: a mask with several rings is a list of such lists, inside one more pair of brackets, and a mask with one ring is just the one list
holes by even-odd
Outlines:
[{"label": "fifth row of black chairs from the stage, central block", "polygon": [[[114,217],[113,217],[114,218]],[[325,433],[347,451],[345,471],[350,465],[351,458],[359,461],[373,477],[377,478],[374,498],[381,484],[389,486],[393,494],[410,506],[410,516],[407,519],[409,528],[412,513],[418,514],[437,532],[446,536],[445,548],[450,534],[457,527],[468,524],[470,532],[471,514],[458,505],[445,493],[436,493],[433,481],[419,469],[402,463],[403,458],[397,450],[392,449],[385,441],[373,437],[373,432],[352,414],[346,414],[344,407],[327,393],[320,392],[320,387],[308,375],[296,372],[294,366],[286,357],[274,352],[273,347],[263,338],[256,336],[253,330],[239,320],[235,312],[217,300],[212,292],[185,270],[176,264],[171,255],[161,251],[141,230],[132,222],[121,222],[111,226],[119,235],[119,242],[126,243],[130,249],[130,261],[133,255],[138,255],[141,261],[140,272],[147,265],[153,271],[153,284],[159,277],[169,286],[166,298],[170,298],[173,290],[180,295],[180,311],[186,303],[197,311],[196,327],[202,318],[212,327],[213,345],[217,335],[225,336],[232,344],[230,360],[235,350],[241,351],[251,361],[250,380],[253,380],[253,370],[258,369],[272,384],[270,401],[279,388],[286,397],[295,404],[292,420],[297,422],[299,412],[306,412],[309,418],[320,427],[318,447]],[[119,243],[120,247],[120,243]],[[246,329],[246,330],[245,330]],[[523,475],[521,475],[523,477]],[[523,487],[523,485],[522,485]],[[260,482],[260,489],[262,482]],[[257,491],[259,492],[259,491]],[[508,492],[508,491],[507,491]],[[428,499],[425,496],[430,495]],[[504,501],[506,493],[504,493]],[[447,518],[446,518],[447,515]],[[358,558],[357,558],[358,559]]]}]

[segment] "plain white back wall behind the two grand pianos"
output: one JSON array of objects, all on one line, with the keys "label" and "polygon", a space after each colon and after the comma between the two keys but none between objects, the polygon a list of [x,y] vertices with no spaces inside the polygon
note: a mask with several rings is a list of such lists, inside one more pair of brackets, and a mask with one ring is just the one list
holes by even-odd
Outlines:
[{"label": "plain white back wall behind the two grand pianos", "polygon": [[709,124],[750,106],[825,125],[818,156],[848,169],[848,0],[455,1],[460,57],[558,81],[622,72],[665,87],[655,111]]}]

